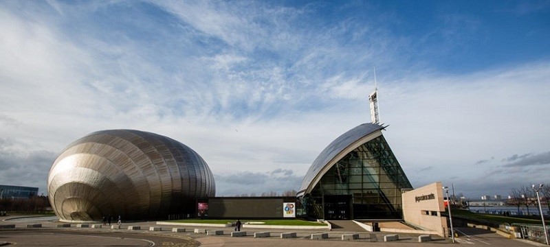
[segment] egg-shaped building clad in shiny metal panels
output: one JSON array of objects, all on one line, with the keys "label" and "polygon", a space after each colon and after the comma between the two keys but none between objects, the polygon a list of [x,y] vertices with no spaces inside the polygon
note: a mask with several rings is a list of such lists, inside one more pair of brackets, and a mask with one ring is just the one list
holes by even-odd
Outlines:
[{"label": "egg-shaped building clad in shiny metal panels", "polygon": [[102,130],[71,143],[47,179],[61,220],[166,218],[215,196],[212,172],[191,148],[139,130]]}]

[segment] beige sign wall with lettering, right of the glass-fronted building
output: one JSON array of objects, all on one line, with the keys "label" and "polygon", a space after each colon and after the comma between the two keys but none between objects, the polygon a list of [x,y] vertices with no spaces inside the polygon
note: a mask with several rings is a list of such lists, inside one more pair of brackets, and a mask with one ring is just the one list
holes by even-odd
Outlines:
[{"label": "beige sign wall with lettering, right of the glass-fronted building", "polygon": [[443,236],[447,218],[441,217],[441,212],[445,211],[442,187],[441,182],[436,182],[403,193],[401,200],[404,220]]}]

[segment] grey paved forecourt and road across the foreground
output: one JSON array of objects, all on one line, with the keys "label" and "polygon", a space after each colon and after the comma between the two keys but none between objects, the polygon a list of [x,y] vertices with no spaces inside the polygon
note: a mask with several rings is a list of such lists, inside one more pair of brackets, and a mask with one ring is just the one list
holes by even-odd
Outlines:
[{"label": "grey paved forecourt and road across the foreground", "polygon": [[[245,237],[231,237],[232,227],[207,227],[208,230],[223,231],[223,235],[210,236],[194,233],[199,226],[165,226],[156,222],[123,222],[121,228],[58,228],[56,220],[43,220],[35,217],[27,220],[3,221],[0,224],[15,224],[15,228],[0,228],[0,246],[3,243],[17,246],[426,246],[433,244],[452,244],[450,239],[432,235],[432,242],[419,243],[417,234],[399,234],[396,242],[384,242],[384,235],[392,233],[370,233],[362,228],[355,228],[351,221],[331,222],[336,224],[332,231],[326,230],[281,230],[265,228],[245,228]],[[0,220],[7,220],[0,217]],[[42,224],[41,228],[26,228],[26,224]],[[96,224],[100,224],[99,222]],[[128,230],[128,226],[140,226],[140,230]],[[162,231],[148,231],[149,226],[160,226]],[[184,233],[173,233],[173,227],[186,228]],[[461,231],[457,244],[468,246],[533,246],[528,242],[507,239],[496,233],[479,228],[456,228]],[[271,233],[271,237],[254,238],[254,233]],[[281,239],[280,233],[295,232],[296,238]],[[312,240],[312,233],[328,233],[328,239]],[[360,238],[342,241],[342,234],[357,233]],[[8,245],[8,246],[10,246]]]}]

